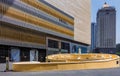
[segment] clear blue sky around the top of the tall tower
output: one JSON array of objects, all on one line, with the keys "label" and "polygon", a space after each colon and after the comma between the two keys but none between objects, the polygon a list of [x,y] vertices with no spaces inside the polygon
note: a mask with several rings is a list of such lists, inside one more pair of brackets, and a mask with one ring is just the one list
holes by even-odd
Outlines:
[{"label": "clear blue sky around the top of the tall tower", "polygon": [[91,0],[92,11],[91,21],[96,22],[96,13],[98,9],[102,8],[103,4],[107,2],[110,6],[116,8],[116,43],[120,43],[120,0]]}]

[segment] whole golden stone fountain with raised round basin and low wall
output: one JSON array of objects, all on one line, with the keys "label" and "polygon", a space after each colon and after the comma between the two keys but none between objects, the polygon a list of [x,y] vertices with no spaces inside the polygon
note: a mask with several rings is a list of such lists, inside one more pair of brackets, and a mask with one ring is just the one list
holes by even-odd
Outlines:
[{"label": "whole golden stone fountain with raised round basin and low wall", "polygon": [[[120,57],[117,55],[113,54],[83,54],[83,55],[78,54],[78,55],[77,54],[50,55],[47,57],[48,59],[50,59],[49,60],[50,62],[44,63],[40,62],[13,63],[13,70],[14,71],[80,70],[80,69],[115,68],[120,66]],[[88,57],[90,58],[88,59]]]}]

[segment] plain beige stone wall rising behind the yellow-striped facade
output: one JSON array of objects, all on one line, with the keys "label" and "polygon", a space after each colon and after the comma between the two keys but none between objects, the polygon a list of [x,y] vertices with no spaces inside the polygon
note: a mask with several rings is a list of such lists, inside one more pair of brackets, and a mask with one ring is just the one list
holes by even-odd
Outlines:
[{"label": "plain beige stone wall rising behind the yellow-striped facade", "polygon": [[45,0],[75,18],[74,40],[90,44],[91,0]]}]

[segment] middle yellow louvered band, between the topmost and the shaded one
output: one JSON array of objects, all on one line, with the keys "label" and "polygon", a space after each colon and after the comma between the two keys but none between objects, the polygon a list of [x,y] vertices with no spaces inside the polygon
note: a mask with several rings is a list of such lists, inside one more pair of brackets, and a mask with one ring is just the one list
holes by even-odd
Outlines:
[{"label": "middle yellow louvered band, between the topmost and the shaded one", "polygon": [[[5,8],[5,6],[6,5],[1,4],[0,8]],[[1,9],[1,10],[3,10],[3,9]],[[1,11],[1,13],[2,13],[2,11]],[[50,29],[50,30],[54,30],[54,31],[57,31],[60,33],[64,33],[66,35],[74,36],[74,33],[71,30],[63,28],[61,26],[57,26],[56,24],[53,24],[53,23],[45,21],[43,19],[34,17],[30,14],[24,13],[24,12],[14,9],[12,7],[10,7],[4,15],[27,22],[27,23],[34,24],[36,26],[42,26],[42,27]]]}]

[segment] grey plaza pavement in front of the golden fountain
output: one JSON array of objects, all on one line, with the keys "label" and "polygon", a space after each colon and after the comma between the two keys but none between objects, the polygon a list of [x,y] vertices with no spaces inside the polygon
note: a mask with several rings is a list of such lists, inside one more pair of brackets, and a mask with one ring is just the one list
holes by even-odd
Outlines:
[{"label": "grey plaza pavement in front of the golden fountain", "polygon": [[5,64],[0,63],[0,76],[120,76],[120,68],[44,72],[3,72],[4,70]]}]

